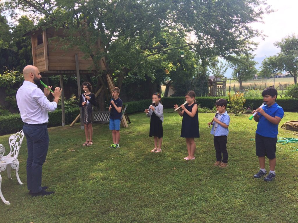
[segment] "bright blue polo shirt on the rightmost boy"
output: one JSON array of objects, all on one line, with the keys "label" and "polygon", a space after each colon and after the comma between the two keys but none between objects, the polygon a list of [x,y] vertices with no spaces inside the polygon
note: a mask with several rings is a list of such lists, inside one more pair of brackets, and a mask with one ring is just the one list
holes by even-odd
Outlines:
[{"label": "bright blue polo shirt on the rightmost boy", "polygon": [[[263,107],[263,110],[266,112],[266,114],[270,115],[271,117],[280,117],[283,118],[283,108],[280,107],[277,103],[274,103],[270,107],[265,105]],[[276,138],[278,134],[278,125],[273,124],[269,122],[263,115],[261,115],[258,112],[258,115],[260,115],[259,122],[257,125],[257,131],[256,133],[270,138]]]}]

